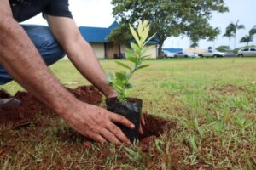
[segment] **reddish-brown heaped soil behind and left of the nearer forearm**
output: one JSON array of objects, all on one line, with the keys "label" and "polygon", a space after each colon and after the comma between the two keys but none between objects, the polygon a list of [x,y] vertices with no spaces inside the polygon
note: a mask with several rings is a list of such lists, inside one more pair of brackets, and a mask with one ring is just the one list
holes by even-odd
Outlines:
[{"label": "reddish-brown heaped soil behind and left of the nearer forearm", "polygon": [[[90,87],[79,87],[76,89],[67,88],[75,97],[92,105],[99,105],[102,102],[102,94],[90,86]],[[0,98],[9,98],[10,95],[0,91]],[[53,114],[46,105],[41,103],[38,99],[34,98],[32,94],[26,92],[18,92],[14,96],[16,99],[20,99],[21,105],[16,107],[7,107],[0,109],[0,124],[12,122],[15,126],[20,123],[33,121],[36,114]]]}]

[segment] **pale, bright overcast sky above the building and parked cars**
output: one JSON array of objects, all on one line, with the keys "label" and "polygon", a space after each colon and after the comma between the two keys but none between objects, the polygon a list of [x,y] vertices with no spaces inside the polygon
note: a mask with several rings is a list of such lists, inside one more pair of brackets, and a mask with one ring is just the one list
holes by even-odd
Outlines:
[{"label": "pale, bright overcast sky above the building and parked cars", "polygon": [[[221,35],[215,42],[207,42],[201,40],[199,48],[208,48],[213,45],[213,48],[217,48],[220,45],[229,45],[229,40],[226,37],[222,37],[226,26],[230,22],[236,22],[243,24],[246,29],[237,31],[236,35],[236,47],[244,46],[240,43],[241,37],[248,34],[248,31],[256,25],[256,0],[224,0],[226,5],[230,8],[230,12],[224,14],[212,14],[212,19],[209,20],[212,26],[220,28]],[[111,0],[69,0],[70,10],[72,11],[73,18],[78,26],[96,26],[96,27],[108,27],[113,21]],[[47,25],[46,21],[42,18],[42,15],[27,20],[24,24],[39,24]],[[164,43],[164,48],[189,48],[188,37],[169,37]],[[231,48],[234,48],[234,39],[231,40]],[[256,37],[250,45],[256,45]]]}]

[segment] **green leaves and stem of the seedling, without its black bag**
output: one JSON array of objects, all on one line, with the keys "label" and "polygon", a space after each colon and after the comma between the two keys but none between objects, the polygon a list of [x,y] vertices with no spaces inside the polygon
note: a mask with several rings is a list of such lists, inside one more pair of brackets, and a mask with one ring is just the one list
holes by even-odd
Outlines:
[{"label": "green leaves and stem of the seedling, without its black bag", "polygon": [[147,43],[154,37],[148,38],[149,26],[148,21],[144,20],[139,21],[137,26],[137,31],[131,26],[130,31],[132,36],[134,37],[136,43],[131,42],[131,49],[126,48],[125,57],[128,61],[132,63],[132,65],[126,65],[117,61],[116,63],[122,67],[124,67],[128,71],[116,71],[114,74],[109,74],[109,85],[115,88],[117,93],[119,94],[118,99],[120,102],[124,101],[127,98],[126,90],[132,88],[132,84],[130,82],[131,76],[138,70],[148,67],[149,65],[143,65],[144,59],[150,57],[146,52],[152,46],[146,48]]}]

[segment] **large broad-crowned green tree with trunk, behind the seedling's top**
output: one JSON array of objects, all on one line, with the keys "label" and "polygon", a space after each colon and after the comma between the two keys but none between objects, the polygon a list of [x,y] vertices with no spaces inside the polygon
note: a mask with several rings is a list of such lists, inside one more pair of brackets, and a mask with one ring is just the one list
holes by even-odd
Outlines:
[{"label": "large broad-crowned green tree with trunk, behind the seedling's top", "polygon": [[[112,4],[114,17],[125,26],[128,26],[128,23],[135,26],[137,20],[149,20],[150,34],[157,32],[154,40],[159,44],[159,55],[167,37],[188,35],[190,25],[196,20],[202,19],[208,23],[212,11],[219,13],[228,11],[224,6],[224,0],[112,0]],[[124,33],[119,32],[118,36],[122,37]]]}]

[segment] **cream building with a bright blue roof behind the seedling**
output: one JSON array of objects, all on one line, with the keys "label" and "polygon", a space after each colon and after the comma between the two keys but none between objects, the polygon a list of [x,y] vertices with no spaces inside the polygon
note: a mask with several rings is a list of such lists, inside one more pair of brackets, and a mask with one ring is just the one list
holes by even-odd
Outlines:
[{"label": "cream building with a bright blue roof behind the seedling", "polygon": [[[98,59],[117,59],[125,54],[126,47],[107,40],[112,29],[117,26],[119,26],[119,24],[114,21],[108,28],[80,26],[79,31],[84,39],[90,43]],[[150,54],[152,56],[151,58],[156,59],[157,43],[151,41],[148,45],[153,45],[154,48],[150,48],[147,54]]]}]

